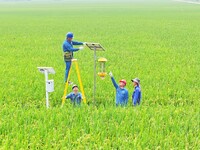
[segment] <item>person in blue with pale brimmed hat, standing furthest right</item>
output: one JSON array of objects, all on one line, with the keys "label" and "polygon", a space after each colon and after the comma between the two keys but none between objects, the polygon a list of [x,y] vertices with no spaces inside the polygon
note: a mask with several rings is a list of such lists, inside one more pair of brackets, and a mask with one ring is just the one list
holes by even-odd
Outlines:
[{"label": "person in blue with pale brimmed hat, standing furthest right", "polygon": [[131,80],[133,82],[134,91],[132,94],[133,106],[140,105],[141,102],[141,89],[140,89],[140,79],[135,78]]}]

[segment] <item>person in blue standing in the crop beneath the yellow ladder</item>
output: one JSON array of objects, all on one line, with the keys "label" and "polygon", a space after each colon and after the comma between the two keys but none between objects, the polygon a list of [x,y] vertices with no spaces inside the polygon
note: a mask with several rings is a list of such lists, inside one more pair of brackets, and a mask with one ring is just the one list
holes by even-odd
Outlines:
[{"label": "person in blue standing in the crop beneath the yellow ladder", "polygon": [[73,105],[80,105],[82,101],[82,94],[78,92],[78,86],[72,86],[72,92],[66,96],[66,99],[70,99]]}]

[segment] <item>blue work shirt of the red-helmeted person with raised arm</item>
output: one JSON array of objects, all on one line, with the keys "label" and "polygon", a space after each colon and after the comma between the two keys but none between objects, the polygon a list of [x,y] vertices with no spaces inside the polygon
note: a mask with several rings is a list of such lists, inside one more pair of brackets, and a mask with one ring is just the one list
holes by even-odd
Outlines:
[{"label": "blue work shirt of the red-helmeted person with raised arm", "polygon": [[125,88],[121,89],[116,83],[114,77],[111,77],[111,80],[116,89],[116,106],[126,106],[128,103],[128,90]]}]

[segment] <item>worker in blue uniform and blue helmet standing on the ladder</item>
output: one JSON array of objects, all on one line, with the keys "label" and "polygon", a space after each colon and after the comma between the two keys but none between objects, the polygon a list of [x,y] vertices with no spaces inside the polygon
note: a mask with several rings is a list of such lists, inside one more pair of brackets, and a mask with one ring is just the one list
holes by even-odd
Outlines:
[{"label": "worker in blue uniform and blue helmet standing on the ladder", "polygon": [[[63,42],[63,52],[64,52],[64,61],[66,64],[66,69],[65,69],[65,82],[67,82],[68,75],[69,75],[69,70],[71,67],[71,60],[73,59],[73,52],[83,50],[84,47],[80,46],[79,48],[73,48],[73,45],[84,45],[85,43],[83,42],[78,42],[78,41],[73,41],[74,35],[72,32],[68,32],[66,34],[66,40]],[[69,81],[69,84],[72,84]]]}]

